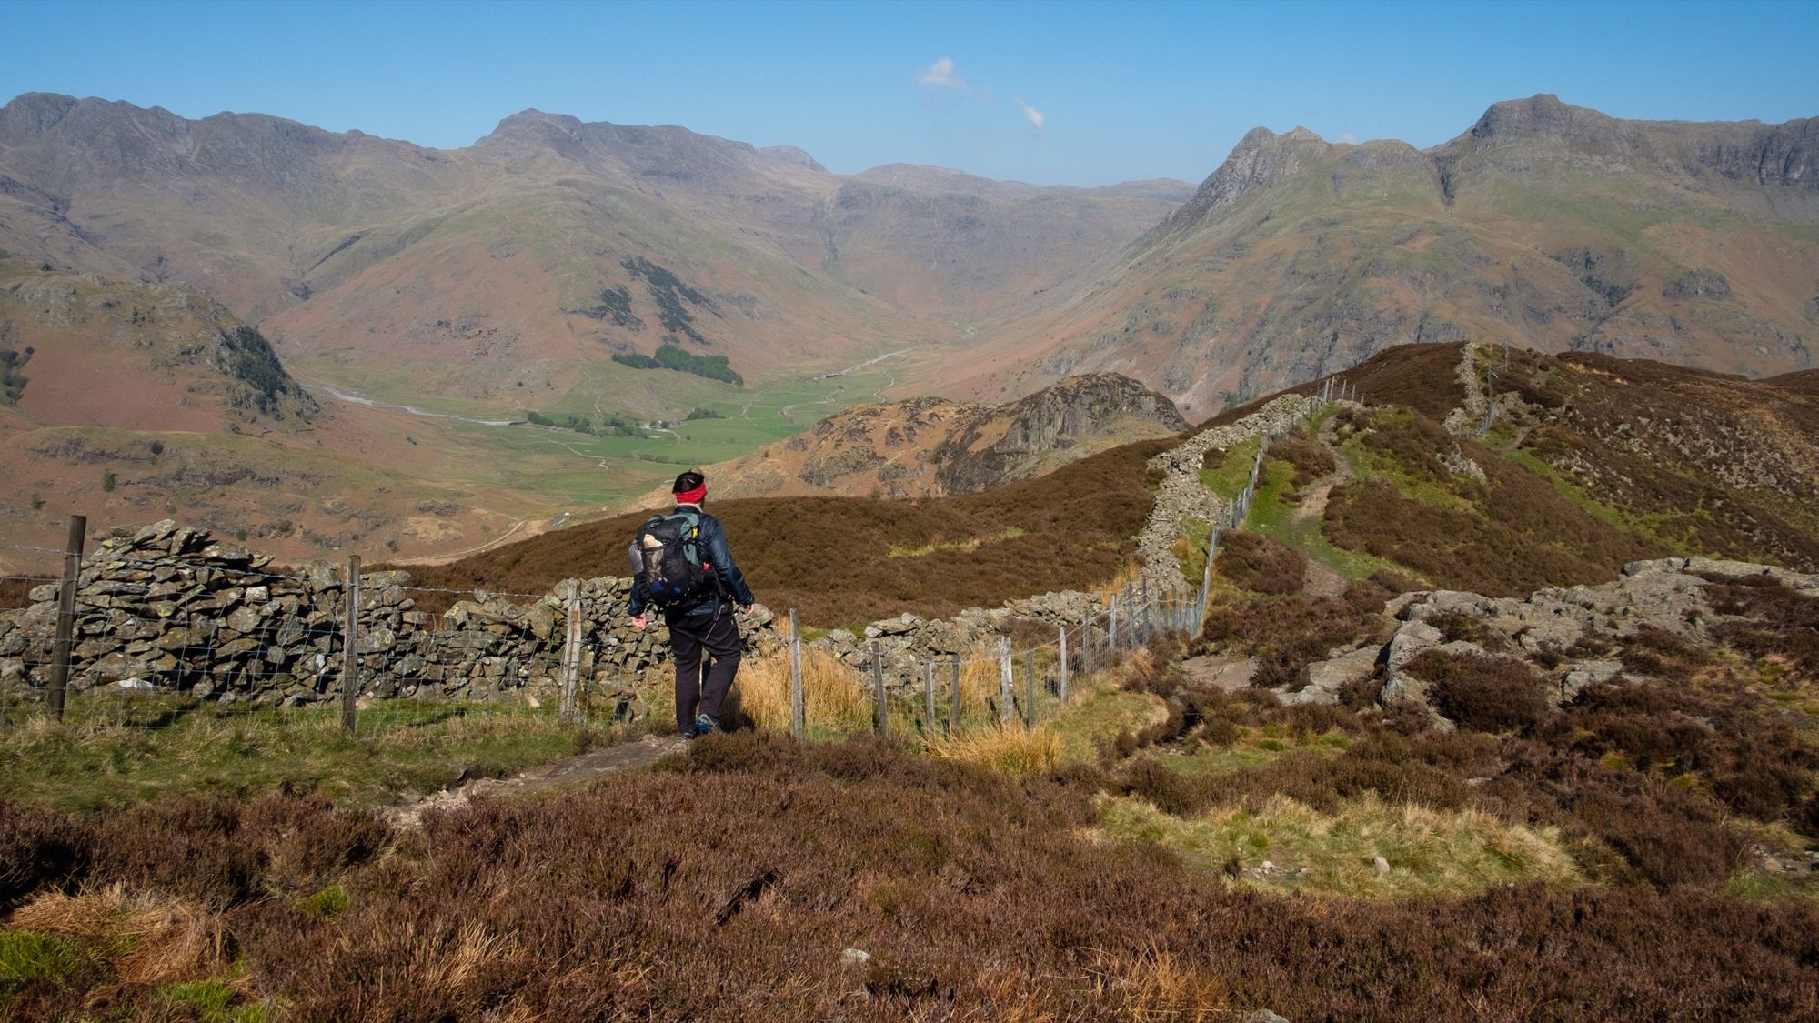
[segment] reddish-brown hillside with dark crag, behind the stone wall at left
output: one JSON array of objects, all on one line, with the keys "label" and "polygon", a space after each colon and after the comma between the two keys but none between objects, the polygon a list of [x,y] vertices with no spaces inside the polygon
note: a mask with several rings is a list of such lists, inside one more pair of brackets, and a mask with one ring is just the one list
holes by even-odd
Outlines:
[{"label": "reddish-brown hillside with dark crag, behind the stone wall at left", "polygon": [[9,542],[62,544],[71,513],[96,533],[180,513],[286,557],[415,553],[484,542],[526,508],[447,428],[318,404],[260,331],[186,284],[0,258],[0,370]]}]

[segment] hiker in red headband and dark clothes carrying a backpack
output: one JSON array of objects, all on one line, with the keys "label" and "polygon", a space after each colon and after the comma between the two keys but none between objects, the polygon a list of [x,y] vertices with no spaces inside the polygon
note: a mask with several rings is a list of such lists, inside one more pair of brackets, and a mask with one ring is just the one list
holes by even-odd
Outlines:
[{"label": "hiker in red headband and dark clothes carrying a backpack", "polygon": [[[751,610],[751,588],[726,550],[726,528],[700,510],[708,481],[698,471],[677,477],[675,512],[651,515],[631,541],[637,584],[631,588],[631,624],[649,624],[655,606],[669,626],[677,666],[677,728],[684,739],[720,730],[720,701],[739,672],[739,624],[733,604]],[[731,599],[731,601],[729,601]],[[713,664],[702,677],[702,652]]]}]

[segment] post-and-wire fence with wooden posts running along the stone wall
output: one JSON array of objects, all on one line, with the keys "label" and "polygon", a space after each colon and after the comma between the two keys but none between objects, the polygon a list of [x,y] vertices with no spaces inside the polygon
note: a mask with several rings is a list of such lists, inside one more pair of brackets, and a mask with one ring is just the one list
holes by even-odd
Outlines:
[{"label": "post-and-wire fence with wooden posts running along the stone wall", "polygon": [[[358,559],[273,570],[240,548],[169,553],[162,541],[104,544],[84,561],[82,528],[73,524],[69,552],[0,546],[7,555],[73,555],[64,577],[0,577],[31,599],[0,617],[0,726],[258,717],[362,734],[449,715],[602,724],[660,714],[671,699],[662,635],[628,624],[629,581],[457,592],[413,586],[398,572],[362,573]],[[418,610],[429,597],[451,606]],[[799,735],[811,721],[817,734],[868,723],[888,732],[893,721],[924,734],[937,723],[942,734],[968,723],[1035,724],[1066,706],[1070,683],[1159,632],[1190,632],[1191,612],[1191,593],[1151,595],[1131,582],[1077,623],[1017,621],[1024,641],[1004,635],[1002,650],[933,655],[884,637],[853,664],[811,648],[828,684],[806,694],[791,612],[788,633],[748,630],[740,686],[753,690],[749,679],[795,664],[789,699],[799,710],[777,726],[799,723]],[[1051,639],[1030,641],[1040,630]],[[946,695],[935,701],[940,681]],[[869,703],[855,714],[855,701]]]}]

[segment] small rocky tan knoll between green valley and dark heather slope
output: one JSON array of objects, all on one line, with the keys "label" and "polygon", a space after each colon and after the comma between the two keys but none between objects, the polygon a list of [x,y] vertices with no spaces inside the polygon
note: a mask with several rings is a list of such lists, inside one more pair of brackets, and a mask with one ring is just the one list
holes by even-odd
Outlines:
[{"label": "small rocky tan knoll between green valley and dark heather slope", "polygon": [[1095,373],[1002,406],[942,399],[855,406],[706,473],[722,499],[942,497],[1033,479],[1186,428],[1166,397],[1126,377]]}]

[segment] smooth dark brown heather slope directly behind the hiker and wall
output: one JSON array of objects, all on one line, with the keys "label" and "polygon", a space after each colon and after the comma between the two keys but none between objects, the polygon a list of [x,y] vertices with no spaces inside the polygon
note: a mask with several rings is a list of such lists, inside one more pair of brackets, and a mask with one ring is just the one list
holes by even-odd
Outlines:
[{"label": "smooth dark brown heather slope directly behind the hiker and wall", "polygon": [[[926,501],[857,497],[713,501],[759,599],[817,626],[906,610],[948,615],[1048,590],[1111,581],[1135,550],[1166,442],[1117,448],[1035,481]],[[535,537],[413,573],[431,586],[538,592],[575,575],[624,575],[646,513]],[[979,544],[968,541],[977,539]],[[922,550],[889,557],[891,550]]]}]

